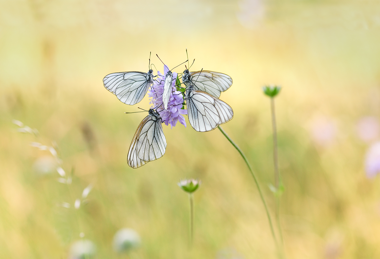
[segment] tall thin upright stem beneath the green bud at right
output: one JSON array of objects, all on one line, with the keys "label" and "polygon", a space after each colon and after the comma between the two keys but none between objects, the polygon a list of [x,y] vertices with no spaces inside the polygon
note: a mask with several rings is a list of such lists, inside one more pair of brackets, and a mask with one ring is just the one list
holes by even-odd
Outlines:
[{"label": "tall thin upright stem beneath the green bud at right", "polygon": [[280,172],[279,172],[279,157],[278,157],[278,148],[277,148],[277,126],[276,126],[276,115],[274,108],[274,97],[271,97],[271,113],[272,113],[272,130],[273,130],[273,163],[274,163],[274,183],[277,190],[275,195],[276,199],[276,221],[277,227],[279,229],[279,235],[281,243],[283,243],[282,230],[280,224]]}]

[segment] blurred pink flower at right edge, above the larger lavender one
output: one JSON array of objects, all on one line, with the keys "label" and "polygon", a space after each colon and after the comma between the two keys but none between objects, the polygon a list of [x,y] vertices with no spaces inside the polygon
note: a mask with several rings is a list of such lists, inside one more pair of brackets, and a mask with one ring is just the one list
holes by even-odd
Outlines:
[{"label": "blurred pink flower at right edge, above the larger lavender one", "polygon": [[376,117],[366,116],[358,121],[356,130],[361,140],[371,142],[378,139],[380,124]]}]

